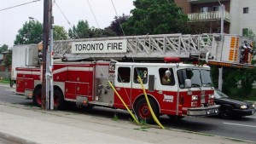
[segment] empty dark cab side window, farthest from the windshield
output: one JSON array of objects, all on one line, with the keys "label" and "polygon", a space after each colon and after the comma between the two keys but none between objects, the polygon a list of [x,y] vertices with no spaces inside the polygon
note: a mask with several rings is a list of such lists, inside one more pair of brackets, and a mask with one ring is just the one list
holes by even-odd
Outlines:
[{"label": "empty dark cab side window, farthest from the windshield", "polygon": [[119,83],[130,83],[131,68],[130,67],[119,67],[117,77],[118,77]]}]

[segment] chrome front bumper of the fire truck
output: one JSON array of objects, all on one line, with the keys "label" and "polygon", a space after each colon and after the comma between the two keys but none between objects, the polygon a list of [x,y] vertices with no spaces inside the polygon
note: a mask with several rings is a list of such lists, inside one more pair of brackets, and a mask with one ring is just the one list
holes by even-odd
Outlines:
[{"label": "chrome front bumper of the fire truck", "polygon": [[208,106],[208,107],[195,107],[195,108],[188,108],[187,115],[188,116],[212,116],[218,114],[218,109],[220,105]]}]

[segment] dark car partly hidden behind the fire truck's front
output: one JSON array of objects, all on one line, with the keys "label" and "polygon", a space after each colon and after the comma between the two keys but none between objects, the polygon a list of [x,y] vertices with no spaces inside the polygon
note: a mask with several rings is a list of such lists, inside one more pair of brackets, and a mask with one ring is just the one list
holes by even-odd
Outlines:
[{"label": "dark car partly hidden behind the fire truck's front", "polygon": [[219,108],[219,116],[221,118],[240,118],[253,115],[255,112],[255,107],[252,103],[230,99],[228,95],[218,89],[214,90],[214,102],[221,106]]}]

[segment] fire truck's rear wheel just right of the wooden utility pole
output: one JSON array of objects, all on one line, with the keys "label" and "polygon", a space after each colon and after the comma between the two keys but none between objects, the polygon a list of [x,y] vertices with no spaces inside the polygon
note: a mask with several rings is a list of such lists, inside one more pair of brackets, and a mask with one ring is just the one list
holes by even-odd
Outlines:
[{"label": "fire truck's rear wheel just right of the wooden utility pole", "polygon": [[60,89],[55,89],[54,91],[54,107],[57,110],[63,109],[65,106],[65,101],[63,94]]}]

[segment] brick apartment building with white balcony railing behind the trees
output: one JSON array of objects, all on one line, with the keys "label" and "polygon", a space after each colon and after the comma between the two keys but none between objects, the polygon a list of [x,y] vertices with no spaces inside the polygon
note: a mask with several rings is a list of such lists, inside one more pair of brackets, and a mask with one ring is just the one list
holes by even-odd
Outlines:
[{"label": "brick apartment building with white balcony railing behind the trees", "polygon": [[188,14],[189,22],[201,25],[203,32],[220,32],[221,6],[224,4],[224,33],[256,34],[255,0],[174,0]]}]

